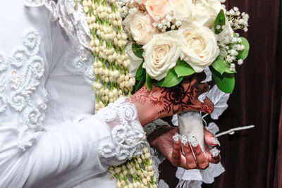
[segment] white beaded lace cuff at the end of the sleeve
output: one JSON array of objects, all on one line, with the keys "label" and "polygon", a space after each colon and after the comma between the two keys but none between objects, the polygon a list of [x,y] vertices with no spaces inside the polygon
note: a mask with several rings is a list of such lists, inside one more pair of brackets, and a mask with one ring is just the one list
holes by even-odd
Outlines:
[{"label": "white beaded lace cuff at the end of the sleeve", "polygon": [[104,122],[116,123],[111,131],[113,142],[103,143],[99,148],[102,157],[114,158],[112,165],[118,165],[126,159],[142,154],[146,145],[145,132],[137,118],[136,108],[125,100],[126,97],[118,99],[97,113],[98,118]]}]

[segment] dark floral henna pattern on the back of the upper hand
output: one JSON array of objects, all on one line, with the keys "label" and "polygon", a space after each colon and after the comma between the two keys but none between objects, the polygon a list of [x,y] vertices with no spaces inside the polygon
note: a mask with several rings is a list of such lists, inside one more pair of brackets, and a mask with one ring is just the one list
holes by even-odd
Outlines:
[{"label": "dark floral henna pattern on the back of the upper hand", "polygon": [[158,114],[172,115],[183,111],[203,111],[212,113],[212,104],[201,103],[197,98],[203,92],[207,92],[207,84],[198,84],[195,80],[187,80],[175,87],[155,87],[149,92],[146,86],[142,87],[137,95],[131,97],[133,102],[145,104],[148,101],[154,106],[159,106]]}]

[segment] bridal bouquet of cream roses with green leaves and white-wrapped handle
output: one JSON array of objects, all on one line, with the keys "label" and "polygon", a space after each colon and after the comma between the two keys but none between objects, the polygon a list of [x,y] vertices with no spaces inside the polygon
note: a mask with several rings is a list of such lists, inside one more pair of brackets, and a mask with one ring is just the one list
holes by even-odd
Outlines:
[{"label": "bridal bouquet of cream roses with green leaves and white-wrapped handle", "polygon": [[[247,39],[235,31],[247,32],[249,15],[237,7],[226,11],[222,3],[224,0],[130,0],[121,4],[130,49],[142,58],[135,90],[145,83],[149,91],[153,83],[174,87],[184,77],[210,70],[217,87],[232,93],[235,64],[242,65],[250,48]],[[204,149],[201,118],[196,112],[178,115],[180,134],[195,136]],[[187,127],[191,120],[194,124]]]}]

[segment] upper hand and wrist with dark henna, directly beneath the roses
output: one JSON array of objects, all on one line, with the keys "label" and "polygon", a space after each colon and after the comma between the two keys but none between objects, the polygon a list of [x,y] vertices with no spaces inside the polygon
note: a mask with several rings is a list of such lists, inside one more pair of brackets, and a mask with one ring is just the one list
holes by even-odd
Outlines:
[{"label": "upper hand and wrist with dark henna, directly beneath the roses", "polygon": [[196,77],[189,77],[176,87],[164,88],[152,86],[151,92],[143,86],[138,92],[130,96],[135,104],[140,123],[147,123],[164,118],[183,111],[202,111],[212,113],[214,104],[208,98],[204,103],[199,101],[198,96],[207,92],[207,83],[201,84]]}]

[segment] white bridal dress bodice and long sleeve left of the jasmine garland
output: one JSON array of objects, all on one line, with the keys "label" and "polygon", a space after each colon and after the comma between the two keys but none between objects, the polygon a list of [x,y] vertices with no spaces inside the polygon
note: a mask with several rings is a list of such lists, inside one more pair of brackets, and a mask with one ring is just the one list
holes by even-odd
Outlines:
[{"label": "white bridal dress bodice and long sleeve left of the jasmine garland", "polygon": [[[68,12],[78,10],[67,10],[68,2],[1,2],[0,187],[100,187],[101,182],[115,187],[107,169],[117,159],[102,157],[99,148],[103,143],[114,145],[118,135],[113,137],[115,126],[90,115],[92,86],[82,76],[92,79],[85,73],[90,60],[78,54],[75,37],[70,37],[78,36],[82,27],[69,25],[79,23],[80,15]],[[71,22],[62,27],[50,20],[59,17]],[[69,64],[80,67],[77,74],[66,70],[67,51]],[[128,138],[137,135],[127,133]]]}]

